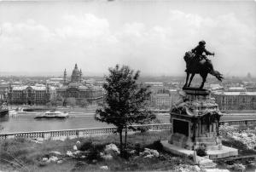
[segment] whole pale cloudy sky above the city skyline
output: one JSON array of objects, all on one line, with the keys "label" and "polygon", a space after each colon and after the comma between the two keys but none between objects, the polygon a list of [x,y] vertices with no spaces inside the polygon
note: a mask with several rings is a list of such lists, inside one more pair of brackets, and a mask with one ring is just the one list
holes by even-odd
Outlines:
[{"label": "whole pale cloudy sky above the city skyline", "polygon": [[224,76],[256,76],[255,1],[0,1],[1,72],[84,76],[116,64],[184,75],[183,55],[207,42]]}]

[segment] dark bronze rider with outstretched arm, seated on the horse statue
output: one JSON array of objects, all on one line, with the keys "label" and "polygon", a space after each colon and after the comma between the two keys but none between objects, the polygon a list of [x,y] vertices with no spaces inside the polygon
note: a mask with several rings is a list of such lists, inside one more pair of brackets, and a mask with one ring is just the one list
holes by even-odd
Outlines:
[{"label": "dark bronze rider with outstretched arm, seated on the horse statue", "polygon": [[[195,49],[192,49],[191,51],[192,51],[192,53],[195,54],[195,60],[196,61],[200,61],[200,60],[205,59],[208,62],[211,62],[211,60],[207,59],[207,55],[213,55],[214,56],[214,53],[211,53],[210,51],[208,51],[206,49],[206,42],[203,41],[203,40],[201,42],[199,42],[198,45],[195,47]],[[205,53],[207,55],[205,55],[203,53]]]}]

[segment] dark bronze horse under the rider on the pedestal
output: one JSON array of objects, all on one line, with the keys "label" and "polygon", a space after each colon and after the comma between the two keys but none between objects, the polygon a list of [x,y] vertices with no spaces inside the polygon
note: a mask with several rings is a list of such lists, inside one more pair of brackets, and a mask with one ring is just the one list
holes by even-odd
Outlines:
[{"label": "dark bronze horse under the rider on the pedestal", "polygon": [[[200,89],[203,89],[204,84],[207,81],[208,73],[210,73],[214,77],[217,77],[219,81],[222,81],[222,79],[224,78],[223,75],[220,74],[218,71],[213,70],[211,60],[206,60],[206,59],[195,60],[195,54],[193,54],[191,51],[185,54],[184,60],[186,61],[186,65],[187,65],[187,69],[185,71],[187,72],[187,78],[183,88],[190,86],[190,83],[192,82],[195,74],[201,75],[202,83],[201,83]],[[191,74],[191,77],[189,79],[190,74]],[[189,81],[189,84],[188,84],[188,81]]]}]

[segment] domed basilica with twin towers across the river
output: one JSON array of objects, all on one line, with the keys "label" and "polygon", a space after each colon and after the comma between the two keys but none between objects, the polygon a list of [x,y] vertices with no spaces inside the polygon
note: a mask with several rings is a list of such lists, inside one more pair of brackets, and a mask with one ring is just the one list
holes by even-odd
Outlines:
[{"label": "domed basilica with twin towers across the river", "polygon": [[67,71],[64,71],[63,86],[57,89],[57,95],[61,95],[64,99],[75,98],[76,100],[88,100],[94,104],[103,101],[102,87],[92,84],[86,84],[82,81],[82,70],[78,65],[74,66],[71,79],[67,79]]}]

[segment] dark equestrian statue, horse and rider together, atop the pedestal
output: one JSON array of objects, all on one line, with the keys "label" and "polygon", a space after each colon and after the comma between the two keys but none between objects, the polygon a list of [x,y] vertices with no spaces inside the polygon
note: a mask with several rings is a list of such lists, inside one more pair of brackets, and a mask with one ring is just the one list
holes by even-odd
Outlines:
[{"label": "dark equestrian statue, horse and rider together, atop the pedestal", "polygon": [[184,60],[186,61],[187,67],[185,72],[187,73],[187,77],[186,83],[184,84],[183,88],[187,88],[190,86],[190,83],[192,82],[195,74],[200,74],[202,77],[200,89],[203,89],[204,84],[207,81],[208,73],[210,73],[214,77],[217,77],[219,81],[222,81],[222,79],[224,78],[223,75],[220,74],[218,71],[214,71],[212,61],[207,59],[207,55],[214,56],[214,53],[207,51],[205,41],[199,42],[195,49],[192,49],[185,54]]}]

